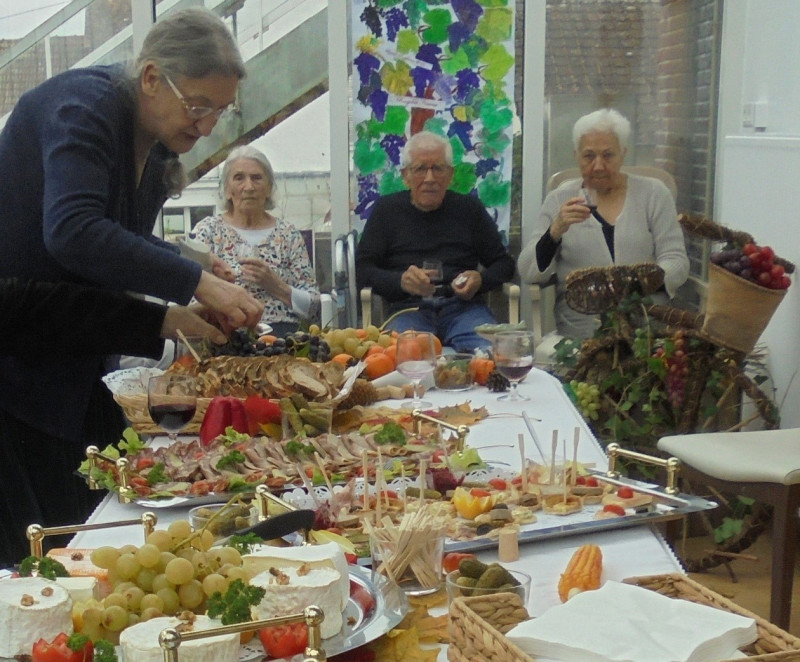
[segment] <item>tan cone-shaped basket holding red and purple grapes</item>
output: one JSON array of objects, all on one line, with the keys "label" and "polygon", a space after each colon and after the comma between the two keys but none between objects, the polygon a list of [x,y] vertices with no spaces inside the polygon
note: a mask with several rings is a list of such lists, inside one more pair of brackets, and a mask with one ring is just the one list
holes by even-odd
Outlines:
[{"label": "tan cone-shaped basket holding red and purple grapes", "polygon": [[716,264],[708,269],[703,332],[725,347],[747,353],[767,328],[786,290],[751,283]]}]

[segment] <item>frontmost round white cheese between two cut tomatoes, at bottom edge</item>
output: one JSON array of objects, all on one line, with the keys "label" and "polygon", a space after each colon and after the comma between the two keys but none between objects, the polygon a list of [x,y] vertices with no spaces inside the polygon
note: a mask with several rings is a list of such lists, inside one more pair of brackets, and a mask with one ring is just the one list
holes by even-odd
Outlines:
[{"label": "frontmost round white cheese between two cut tomatoes, at bottom edge", "polygon": [[[125,628],[119,637],[125,662],[163,662],[164,650],[158,643],[158,635],[180,623],[183,621],[178,618],[162,616]],[[208,630],[220,625],[219,620],[197,616],[192,629]],[[178,659],[181,662],[238,662],[239,647],[238,633],[182,641]]]}]

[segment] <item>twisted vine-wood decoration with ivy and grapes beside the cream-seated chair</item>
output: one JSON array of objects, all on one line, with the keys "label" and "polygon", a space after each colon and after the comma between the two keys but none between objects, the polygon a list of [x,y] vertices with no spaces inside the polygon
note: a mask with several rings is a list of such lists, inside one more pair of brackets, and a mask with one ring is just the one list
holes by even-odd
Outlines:
[{"label": "twisted vine-wood decoration with ivy and grapes beside the cream-seated chair", "polygon": [[[789,287],[794,265],[751,235],[685,214],[679,222],[689,234],[724,242],[711,255],[719,267],[765,290]],[[652,453],[657,440],[669,434],[733,431],[756,418],[767,429],[777,428],[777,406],[746,370],[757,356],[706,334],[703,314],[653,304],[648,295],[660,286],[659,271],[652,264],[591,268],[567,280],[569,305],[600,314],[601,326],[580,347],[570,339],[556,346],[559,376],[598,439]],[[739,419],[732,397],[739,392],[752,400],[755,414],[727,424]],[[716,551],[743,551],[763,531],[764,519],[758,510],[747,528],[722,536]],[[711,553],[684,562],[687,568],[709,569],[723,558]]]}]

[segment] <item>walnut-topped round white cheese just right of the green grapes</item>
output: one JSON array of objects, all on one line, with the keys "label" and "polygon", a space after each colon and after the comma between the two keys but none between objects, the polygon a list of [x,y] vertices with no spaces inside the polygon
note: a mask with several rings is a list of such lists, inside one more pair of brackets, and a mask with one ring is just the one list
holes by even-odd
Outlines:
[{"label": "walnut-topped round white cheese just right of the green grapes", "polygon": [[250,580],[253,586],[266,590],[261,603],[255,607],[256,618],[275,618],[297,614],[306,607],[316,605],[325,614],[320,626],[323,639],[338,634],[342,629],[342,609],[340,607],[339,572],[331,568],[312,568],[307,573],[298,574],[297,568],[281,568],[287,575],[288,583],[281,584],[269,571],[262,572]]}]

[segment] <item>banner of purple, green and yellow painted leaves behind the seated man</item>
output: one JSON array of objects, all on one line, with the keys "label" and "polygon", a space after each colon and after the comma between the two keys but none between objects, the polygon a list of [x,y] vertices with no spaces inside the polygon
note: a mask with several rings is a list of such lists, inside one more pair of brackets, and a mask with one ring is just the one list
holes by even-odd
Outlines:
[{"label": "banner of purple, green and yellow painted leaves behind the seated man", "polygon": [[353,0],[352,10],[356,229],[379,196],[405,188],[400,150],[424,129],[453,145],[450,188],[477,195],[507,237],[513,0]]}]

